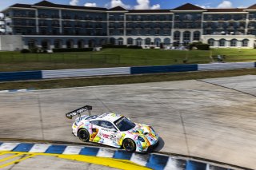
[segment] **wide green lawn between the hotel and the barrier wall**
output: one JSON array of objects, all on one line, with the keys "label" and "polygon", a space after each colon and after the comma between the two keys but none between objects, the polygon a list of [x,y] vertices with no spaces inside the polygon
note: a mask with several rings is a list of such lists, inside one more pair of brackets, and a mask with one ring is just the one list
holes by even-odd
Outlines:
[{"label": "wide green lawn between the hotel and the barrier wall", "polygon": [[256,49],[178,51],[160,49],[102,49],[83,53],[0,52],[0,71],[80,69],[138,65],[209,63],[210,53],[226,55],[226,62],[256,61]]}]

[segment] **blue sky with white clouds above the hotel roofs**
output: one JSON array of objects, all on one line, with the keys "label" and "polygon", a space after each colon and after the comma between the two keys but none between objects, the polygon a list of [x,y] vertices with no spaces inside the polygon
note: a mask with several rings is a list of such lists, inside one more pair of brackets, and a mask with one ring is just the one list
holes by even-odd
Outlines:
[{"label": "blue sky with white clouds above the hotel roofs", "polygon": [[[15,3],[34,4],[41,0],[0,0],[0,11]],[[205,8],[248,7],[256,3],[255,0],[48,0],[49,2],[73,6],[97,6],[111,8],[122,6],[126,9],[172,9],[185,3],[192,3]]]}]

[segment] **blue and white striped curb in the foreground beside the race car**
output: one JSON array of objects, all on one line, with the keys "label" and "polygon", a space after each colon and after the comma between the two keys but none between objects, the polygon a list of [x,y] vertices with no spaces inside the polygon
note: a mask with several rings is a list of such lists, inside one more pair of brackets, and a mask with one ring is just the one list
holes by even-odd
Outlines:
[{"label": "blue and white striped curb in the foreground beside the race car", "polygon": [[124,150],[111,148],[98,148],[89,146],[68,146],[62,144],[30,144],[30,143],[1,143],[0,152],[30,152],[30,153],[51,153],[63,155],[84,155],[114,158],[119,160],[130,160],[147,168],[157,170],[185,169],[185,170],[229,170],[213,164],[207,164],[196,160],[188,160],[180,157],[166,156],[160,154],[138,154]]}]

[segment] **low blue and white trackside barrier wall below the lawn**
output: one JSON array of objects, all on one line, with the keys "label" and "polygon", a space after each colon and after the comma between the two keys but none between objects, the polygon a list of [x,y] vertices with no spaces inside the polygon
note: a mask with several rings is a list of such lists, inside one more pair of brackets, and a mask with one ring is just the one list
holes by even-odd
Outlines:
[{"label": "low blue and white trackside barrier wall below the lawn", "polygon": [[220,69],[252,69],[256,62],[216,63],[199,65],[166,65],[143,67],[114,67],[98,69],[57,69],[27,72],[0,72],[0,81],[22,81],[62,77],[90,77],[106,75],[130,75],[142,73],[170,73],[186,71],[220,70]]}]

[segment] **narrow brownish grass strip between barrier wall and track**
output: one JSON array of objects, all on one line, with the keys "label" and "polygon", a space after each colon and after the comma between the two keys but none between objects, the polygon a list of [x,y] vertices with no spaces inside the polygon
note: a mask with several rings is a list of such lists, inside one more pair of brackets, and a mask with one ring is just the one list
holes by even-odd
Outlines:
[{"label": "narrow brownish grass strip between barrier wall and track", "polygon": [[83,87],[92,85],[121,85],[130,83],[146,83],[160,81],[182,81],[203,78],[234,77],[254,74],[256,69],[237,69],[222,71],[203,71],[185,73],[161,73],[120,77],[79,77],[70,79],[54,79],[43,81],[16,81],[0,83],[0,90],[5,89],[57,89],[69,87]]}]

